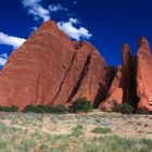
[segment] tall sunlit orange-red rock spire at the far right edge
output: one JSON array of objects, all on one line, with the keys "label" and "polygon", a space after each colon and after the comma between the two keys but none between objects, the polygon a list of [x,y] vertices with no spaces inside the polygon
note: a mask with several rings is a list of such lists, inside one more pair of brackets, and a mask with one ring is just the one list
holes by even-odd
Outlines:
[{"label": "tall sunlit orange-red rock spire at the far right edge", "polygon": [[144,37],[139,39],[137,53],[137,97],[138,107],[152,111],[152,54]]}]

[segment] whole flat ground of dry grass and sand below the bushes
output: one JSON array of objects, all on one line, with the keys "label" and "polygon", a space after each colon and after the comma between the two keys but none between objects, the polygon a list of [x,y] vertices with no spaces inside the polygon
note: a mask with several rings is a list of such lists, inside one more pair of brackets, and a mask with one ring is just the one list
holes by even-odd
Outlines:
[{"label": "whole flat ground of dry grass and sand below the bushes", "polygon": [[81,151],[151,152],[152,116],[0,113],[0,152]]}]

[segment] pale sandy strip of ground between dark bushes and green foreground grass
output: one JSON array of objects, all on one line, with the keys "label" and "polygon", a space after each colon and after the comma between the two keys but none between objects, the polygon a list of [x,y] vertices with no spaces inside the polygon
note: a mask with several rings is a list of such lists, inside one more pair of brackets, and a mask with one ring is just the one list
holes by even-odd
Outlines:
[{"label": "pale sandy strip of ground between dark bushes and green foreground grass", "polygon": [[29,131],[67,135],[72,128],[84,127],[85,138],[98,136],[92,132],[96,127],[111,128],[109,135],[128,138],[152,139],[152,115],[123,115],[93,111],[88,114],[34,114],[0,113],[0,123],[7,126],[28,129]]}]

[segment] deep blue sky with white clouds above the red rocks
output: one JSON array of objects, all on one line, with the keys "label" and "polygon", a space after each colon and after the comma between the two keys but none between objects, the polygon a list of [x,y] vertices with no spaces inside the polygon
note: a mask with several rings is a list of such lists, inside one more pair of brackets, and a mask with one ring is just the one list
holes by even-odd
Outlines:
[{"label": "deep blue sky with white clouds above the red rocks", "polygon": [[87,39],[109,65],[121,63],[122,43],[137,52],[144,35],[152,43],[151,0],[1,0],[0,65],[41,23],[54,20],[73,39]]}]

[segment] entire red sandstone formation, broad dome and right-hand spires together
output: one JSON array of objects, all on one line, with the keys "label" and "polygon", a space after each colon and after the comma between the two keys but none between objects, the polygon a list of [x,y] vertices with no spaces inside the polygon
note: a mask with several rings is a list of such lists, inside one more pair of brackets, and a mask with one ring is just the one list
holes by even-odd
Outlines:
[{"label": "entire red sandstone formation, broad dome and right-hand spires together", "polygon": [[49,21],[15,50],[0,73],[0,105],[64,104],[87,98],[112,111],[125,102],[152,111],[152,54],[144,37],[137,60],[123,46],[117,72],[87,41],[71,41]]}]

